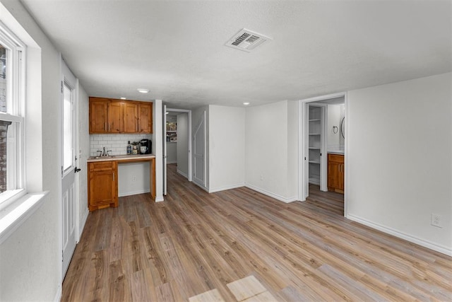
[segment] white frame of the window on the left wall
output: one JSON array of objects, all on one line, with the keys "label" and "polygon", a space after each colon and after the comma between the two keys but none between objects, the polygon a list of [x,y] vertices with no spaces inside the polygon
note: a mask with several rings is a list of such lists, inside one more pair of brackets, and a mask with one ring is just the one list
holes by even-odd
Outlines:
[{"label": "white frame of the window on the left wall", "polygon": [[[0,44],[7,49],[6,111],[0,120],[16,123],[15,140],[8,143],[7,190],[0,194],[0,210],[26,194],[25,187],[25,58],[26,47],[0,21]],[[10,151],[11,150],[11,151]],[[15,170],[11,173],[11,167]]]}]

